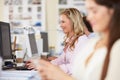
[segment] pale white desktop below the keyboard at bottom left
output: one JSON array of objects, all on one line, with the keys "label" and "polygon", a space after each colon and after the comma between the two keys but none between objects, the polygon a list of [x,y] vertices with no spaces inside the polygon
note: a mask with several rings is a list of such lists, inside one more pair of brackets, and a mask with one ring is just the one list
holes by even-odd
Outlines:
[{"label": "pale white desktop below the keyboard at bottom left", "polygon": [[2,71],[0,80],[41,80],[37,71]]}]

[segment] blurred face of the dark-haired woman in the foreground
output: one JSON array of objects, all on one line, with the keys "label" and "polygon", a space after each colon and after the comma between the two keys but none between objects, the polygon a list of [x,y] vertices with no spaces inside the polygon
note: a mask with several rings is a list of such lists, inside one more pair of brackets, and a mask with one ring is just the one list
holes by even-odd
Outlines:
[{"label": "blurred face of the dark-haired woman in the foreground", "polygon": [[87,20],[95,32],[107,32],[113,10],[95,3],[94,0],[86,0],[88,10]]}]

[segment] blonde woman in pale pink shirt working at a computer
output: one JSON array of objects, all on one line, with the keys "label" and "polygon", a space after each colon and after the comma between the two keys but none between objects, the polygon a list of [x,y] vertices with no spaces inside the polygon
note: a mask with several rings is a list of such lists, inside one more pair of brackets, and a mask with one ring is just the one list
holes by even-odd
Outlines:
[{"label": "blonde woman in pale pink shirt working at a computer", "polygon": [[68,8],[60,14],[60,26],[65,33],[63,53],[51,63],[59,66],[65,73],[71,74],[72,62],[76,52],[81,50],[87,41],[84,34],[84,22],[80,12],[75,8]]}]

